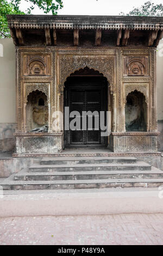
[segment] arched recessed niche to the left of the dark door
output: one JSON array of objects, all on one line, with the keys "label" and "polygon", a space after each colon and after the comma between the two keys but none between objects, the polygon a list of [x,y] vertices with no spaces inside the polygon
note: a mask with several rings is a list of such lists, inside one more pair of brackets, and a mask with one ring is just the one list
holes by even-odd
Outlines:
[{"label": "arched recessed niche to the left of the dark door", "polygon": [[29,93],[26,105],[26,129],[48,125],[48,103],[45,93],[35,90]]}]

